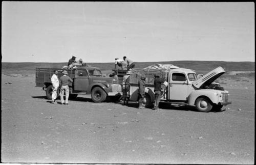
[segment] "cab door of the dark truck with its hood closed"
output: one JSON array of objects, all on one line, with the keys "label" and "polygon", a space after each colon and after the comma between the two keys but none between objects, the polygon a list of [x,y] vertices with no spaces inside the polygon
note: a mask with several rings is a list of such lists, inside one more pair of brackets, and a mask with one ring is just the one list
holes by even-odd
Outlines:
[{"label": "cab door of the dark truck with its hood closed", "polygon": [[74,78],[75,91],[87,91],[89,87],[89,76],[87,70],[76,70]]}]

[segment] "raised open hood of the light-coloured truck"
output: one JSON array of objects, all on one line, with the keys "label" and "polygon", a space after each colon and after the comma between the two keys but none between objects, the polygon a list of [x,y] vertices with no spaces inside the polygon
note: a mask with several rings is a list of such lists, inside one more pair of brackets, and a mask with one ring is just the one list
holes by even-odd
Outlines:
[{"label": "raised open hood of the light-coloured truck", "polygon": [[209,73],[205,74],[203,77],[199,78],[198,80],[194,81],[192,85],[196,88],[203,88],[205,86],[208,86],[216,80],[218,77],[220,77],[222,74],[225,73],[225,70],[222,67],[218,67]]}]

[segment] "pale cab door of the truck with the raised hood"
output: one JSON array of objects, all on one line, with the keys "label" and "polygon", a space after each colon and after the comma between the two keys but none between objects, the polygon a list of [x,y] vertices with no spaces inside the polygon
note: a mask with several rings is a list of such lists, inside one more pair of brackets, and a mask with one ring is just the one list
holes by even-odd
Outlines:
[{"label": "pale cab door of the truck with the raised hood", "polygon": [[169,74],[169,100],[185,101],[188,96],[188,81],[186,74],[177,71],[170,72]]}]

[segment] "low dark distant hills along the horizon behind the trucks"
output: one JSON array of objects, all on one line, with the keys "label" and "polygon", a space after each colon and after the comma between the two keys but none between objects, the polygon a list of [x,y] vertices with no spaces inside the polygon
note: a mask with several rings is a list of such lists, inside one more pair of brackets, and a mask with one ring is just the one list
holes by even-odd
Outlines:
[{"label": "low dark distant hills along the horizon behind the trucks", "polygon": [[[87,63],[90,66],[98,67],[101,70],[114,69],[113,63]],[[136,68],[145,68],[153,64],[173,64],[180,68],[196,70],[197,73],[206,73],[221,66],[225,71],[254,71],[254,62],[225,62],[225,61],[168,61],[168,62],[137,62]],[[35,70],[36,67],[61,68],[67,63],[2,63],[2,71],[11,70]]]}]

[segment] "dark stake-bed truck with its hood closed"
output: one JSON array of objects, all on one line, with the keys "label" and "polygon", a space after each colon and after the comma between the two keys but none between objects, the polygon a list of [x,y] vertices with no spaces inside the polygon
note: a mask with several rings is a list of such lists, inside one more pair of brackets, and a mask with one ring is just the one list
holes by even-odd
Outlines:
[{"label": "dark stake-bed truck with its hood closed", "polygon": [[[51,76],[54,70],[58,70],[58,78],[60,78],[62,68],[36,68],[35,73],[36,87],[41,87],[50,100],[52,99]],[[107,98],[116,102],[122,98],[122,87],[118,80],[103,76],[99,68],[82,66],[66,70],[68,76],[73,79],[73,83],[69,85],[70,99],[75,99],[77,95],[91,95],[94,102],[103,102]]]}]

